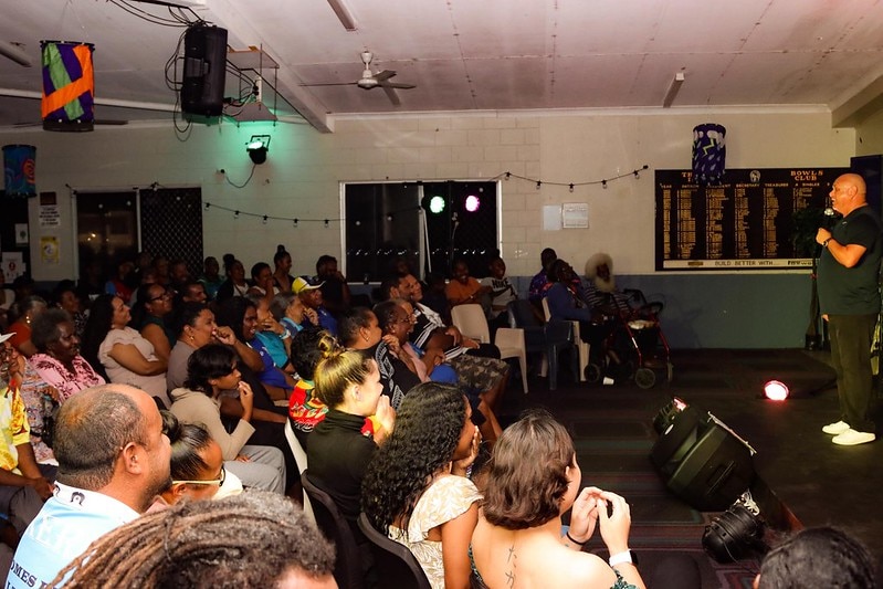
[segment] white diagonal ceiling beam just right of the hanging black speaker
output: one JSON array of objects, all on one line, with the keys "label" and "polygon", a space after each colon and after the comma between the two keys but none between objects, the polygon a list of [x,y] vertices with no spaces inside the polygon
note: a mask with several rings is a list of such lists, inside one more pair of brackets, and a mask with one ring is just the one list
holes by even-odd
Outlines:
[{"label": "white diagonal ceiling beam just right of the hanging black speaker", "polygon": [[[272,43],[259,32],[249,21],[246,13],[239,10],[236,2],[230,0],[206,0],[211,14],[217,18],[218,24],[223,27],[231,34],[239,38],[245,45],[260,46],[267,54],[280,59],[280,53],[273,50]],[[248,3],[244,3],[248,4]],[[294,106],[313,127],[320,133],[334,133],[334,122],[328,116],[328,108],[322,104],[313,94],[301,86],[302,81],[286,67],[280,64],[278,69],[280,88],[285,90],[284,99]]]}]

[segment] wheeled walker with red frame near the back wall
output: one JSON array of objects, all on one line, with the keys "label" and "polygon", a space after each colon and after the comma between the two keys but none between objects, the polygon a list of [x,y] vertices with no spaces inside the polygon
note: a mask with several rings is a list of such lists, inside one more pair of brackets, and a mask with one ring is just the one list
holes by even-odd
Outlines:
[{"label": "wheeled walker with red frame near the back wall", "polygon": [[610,295],[592,338],[586,380],[633,378],[642,389],[653,388],[662,379],[671,382],[671,353],[659,320],[662,308],[660,302],[648,303],[638,290]]}]

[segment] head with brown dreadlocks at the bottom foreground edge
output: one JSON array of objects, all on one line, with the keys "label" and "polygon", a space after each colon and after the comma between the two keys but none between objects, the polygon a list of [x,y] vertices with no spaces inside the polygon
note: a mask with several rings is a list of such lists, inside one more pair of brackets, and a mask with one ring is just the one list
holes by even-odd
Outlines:
[{"label": "head with brown dreadlocks at the bottom foreground edge", "polygon": [[66,588],[336,587],[334,547],[294,503],[248,491],[181,502],[92,544],[50,583]]}]

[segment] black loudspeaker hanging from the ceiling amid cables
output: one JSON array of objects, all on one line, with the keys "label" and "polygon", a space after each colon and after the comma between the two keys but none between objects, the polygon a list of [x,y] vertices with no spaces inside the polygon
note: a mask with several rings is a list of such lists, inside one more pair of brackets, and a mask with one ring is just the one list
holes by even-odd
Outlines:
[{"label": "black loudspeaker hanging from the ceiling amid cables", "polygon": [[183,35],[181,111],[188,115],[221,116],[227,77],[227,29],[191,27]]}]

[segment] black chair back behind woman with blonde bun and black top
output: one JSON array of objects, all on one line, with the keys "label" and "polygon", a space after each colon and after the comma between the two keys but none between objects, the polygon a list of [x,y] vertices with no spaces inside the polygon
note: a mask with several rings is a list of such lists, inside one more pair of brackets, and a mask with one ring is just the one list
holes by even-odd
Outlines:
[{"label": "black chair back behind woman with blonde bun and black top", "polygon": [[334,580],[337,581],[337,587],[362,589],[365,571],[361,568],[361,551],[349,523],[340,514],[334,499],[311,481],[309,469],[301,473],[301,483],[313,505],[316,525],[337,548],[337,560],[334,564]]}]

